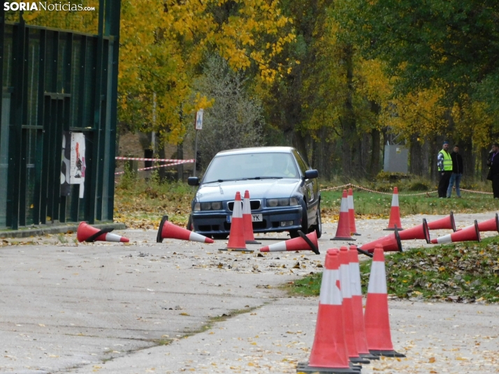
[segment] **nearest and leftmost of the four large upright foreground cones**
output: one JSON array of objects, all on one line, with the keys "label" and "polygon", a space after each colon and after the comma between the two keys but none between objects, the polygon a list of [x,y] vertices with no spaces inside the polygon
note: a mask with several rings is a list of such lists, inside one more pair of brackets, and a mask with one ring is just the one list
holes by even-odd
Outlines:
[{"label": "nearest and leftmost of the four large upright foreground cones", "polygon": [[359,373],[350,368],[343,330],[342,296],[338,250],[328,250],[322,273],[319,312],[308,364],[299,363],[298,373]]}]

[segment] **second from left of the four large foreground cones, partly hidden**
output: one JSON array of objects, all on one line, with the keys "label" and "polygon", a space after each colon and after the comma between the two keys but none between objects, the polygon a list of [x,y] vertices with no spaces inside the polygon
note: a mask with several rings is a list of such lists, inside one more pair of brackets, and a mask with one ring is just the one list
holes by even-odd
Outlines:
[{"label": "second from left of the four large foreground cones, partly hidden", "polygon": [[343,326],[345,327],[345,344],[347,345],[348,357],[354,364],[369,364],[370,361],[368,359],[362,359],[359,356],[359,350],[357,350],[356,345],[348,247],[342,246],[338,257],[340,260],[340,288],[343,298]]}]

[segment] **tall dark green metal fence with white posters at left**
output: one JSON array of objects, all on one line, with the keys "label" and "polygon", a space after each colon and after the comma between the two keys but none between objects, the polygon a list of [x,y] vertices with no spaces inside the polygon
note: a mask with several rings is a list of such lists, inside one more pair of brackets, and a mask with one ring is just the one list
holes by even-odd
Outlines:
[{"label": "tall dark green metal fence with white posters at left", "polygon": [[[120,0],[93,6],[0,10],[0,229],[113,220]],[[62,185],[68,133],[85,136],[84,184]]]}]

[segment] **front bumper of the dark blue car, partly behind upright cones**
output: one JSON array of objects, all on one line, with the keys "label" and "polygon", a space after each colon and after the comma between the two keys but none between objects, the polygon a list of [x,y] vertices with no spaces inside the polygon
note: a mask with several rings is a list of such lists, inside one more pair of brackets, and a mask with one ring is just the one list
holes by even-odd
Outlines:
[{"label": "front bumper of the dark blue car, partly behind upright cones", "polygon": [[[203,235],[229,234],[231,223],[227,216],[232,212],[195,211],[192,213],[194,232]],[[261,222],[253,222],[253,232],[282,232],[301,229],[302,208],[287,207],[276,209],[262,209],[252,211],[252,214],[261,214]],[[289,226],[281,226],[281,222],[292,222]]]}]

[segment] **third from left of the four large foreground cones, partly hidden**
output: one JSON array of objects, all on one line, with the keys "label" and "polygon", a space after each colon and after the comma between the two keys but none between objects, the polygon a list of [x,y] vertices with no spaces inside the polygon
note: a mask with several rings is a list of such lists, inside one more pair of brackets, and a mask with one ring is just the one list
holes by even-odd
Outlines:
[{"label": "third from left of the four large foreground cones, partly hidden", "polygon": [[378,356],[369,353],[364,326],[364,308],[362,305],[361,269],[359,268],[359,253],[356,246],[350,246],[350,290],[352,291],[352,317],[354,318],[355,344],[359,356],[364,359],[379,360]]}]

